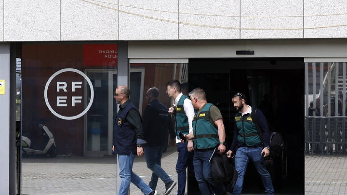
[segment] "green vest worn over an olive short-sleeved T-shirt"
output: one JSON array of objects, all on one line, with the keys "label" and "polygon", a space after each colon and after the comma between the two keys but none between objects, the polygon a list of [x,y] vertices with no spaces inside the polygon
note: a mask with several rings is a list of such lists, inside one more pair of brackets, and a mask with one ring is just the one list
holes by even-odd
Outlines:
[{"label": "green vest worn over an olive short-sleeved T-shirt", "polygon": [[193,118],[194,149],[211,149],[219,144],[218,128],[210,121],[210,108],[213,104],[206,103],[199,115]]}]

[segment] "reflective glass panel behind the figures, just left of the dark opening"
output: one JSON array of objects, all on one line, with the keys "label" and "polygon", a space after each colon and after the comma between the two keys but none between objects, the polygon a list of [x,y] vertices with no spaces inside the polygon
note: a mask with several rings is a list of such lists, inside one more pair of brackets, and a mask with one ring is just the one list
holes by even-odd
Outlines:
[{"label": "reflective glass panel behind the figures, just left of the dark opening", "polygon": [[[139,70],[142,70],[140,74]],[[142,76],[141,76],[142,75]],[[166,83],[172,79],[177,79],[181,83],[187,81],[187,64],[185,63],[131,63],[130,64],[130,101],[138,106],[139,111],[143,114],[148,102],[146,92],[151,87],[156,87],[159,90],[158,100],[166,107],[172,105],[172,99],[166,94]],[[141,81],[143,80],[143,81]],[[183,84],[181,92],[188,93],[188,85]],[[177,149],[176,146],[169,145],[169,133],[164,142],[165,149],[161,158],[161,168],[174,181],[177,181],[176,162]],[[158,140],[159,142],[160,140]],[[136,157],[133,171],[141,175],[146,184],[149,184],[152,177],[152,171],[147,168],[145,155]],[[153,185],[153,184],[151,184]],[[156,191],[163,194],[166,190],[164,182],[159,178],[156,185]],[[130,185],[130,194],[141,194],[141,191],[134,185]],[[177,186],[170,194],[177,194]]]}]

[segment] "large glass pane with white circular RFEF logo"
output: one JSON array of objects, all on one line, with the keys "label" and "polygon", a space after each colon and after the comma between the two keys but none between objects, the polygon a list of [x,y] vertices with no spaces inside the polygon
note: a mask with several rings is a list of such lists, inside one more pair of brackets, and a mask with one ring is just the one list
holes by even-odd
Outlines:
[{"label": "large glass pane with white circular RFEF logo", "polygon": [[22,45],[22,194],[115,193],[117,55],[117,44]]}]

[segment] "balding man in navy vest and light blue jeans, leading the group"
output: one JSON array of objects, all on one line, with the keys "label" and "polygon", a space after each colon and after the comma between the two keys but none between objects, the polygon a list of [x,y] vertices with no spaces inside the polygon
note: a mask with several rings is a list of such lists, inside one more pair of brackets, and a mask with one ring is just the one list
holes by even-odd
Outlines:
[{"label": "balding man in navy vest and light blue jeans, leading the group", "polygon": [[118,154],[118,163],[122,179],[118,195],[128,195],[130,181],[141,189],[145,195],[156,195],[138,175],[133,171],[135,156],[144,154],[141,116],[135,105],[129,101],[129,88],[125,85],[119,86],[115,90],[113,97],[120,104],[113,128],[112,151]]}]

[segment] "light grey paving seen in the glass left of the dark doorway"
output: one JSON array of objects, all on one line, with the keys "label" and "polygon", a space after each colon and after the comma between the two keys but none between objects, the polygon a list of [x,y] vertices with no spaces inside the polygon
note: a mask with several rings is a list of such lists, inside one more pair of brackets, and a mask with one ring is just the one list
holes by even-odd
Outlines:
[{"label": "light grey paving seen in the glass left of the dark doorway", "polygon": [[[162,167],[177,181],[177,151],[170,147],[163,154]],[[144,156],[136,157],[133,171],[145,183],[149,183],[152,172],[146,166]],[[22,159],[22,194],[25,195],[110,195],[117,194],[116,156],[100,158],[29,157]],[[158,195],[165,191],[164,183],[159,179],[156,190]],[[141,195],[141,191],[130,185],[131,195]],[[177,186],[170,195],[177,194]]]}]

